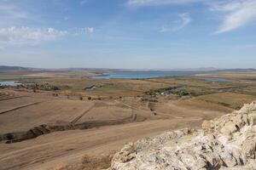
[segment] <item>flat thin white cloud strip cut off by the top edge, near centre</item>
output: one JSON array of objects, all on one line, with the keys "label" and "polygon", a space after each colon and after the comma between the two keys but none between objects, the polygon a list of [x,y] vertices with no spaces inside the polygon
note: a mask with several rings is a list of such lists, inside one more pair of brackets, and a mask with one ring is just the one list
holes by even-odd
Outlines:
[{"label": "flat thin white cloud strip cut off by the top edge, near centre", "polygon": [[127,4],[130,6],[155,6],[166,4],[185,4],[196,3],[202,0],[128,0]]}]

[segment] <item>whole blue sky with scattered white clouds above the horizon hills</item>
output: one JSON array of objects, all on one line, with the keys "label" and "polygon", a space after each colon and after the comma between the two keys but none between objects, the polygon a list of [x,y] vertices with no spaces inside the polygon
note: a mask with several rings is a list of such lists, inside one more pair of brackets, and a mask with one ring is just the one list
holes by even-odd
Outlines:
[{"label": "whole blue sky with scattered white clouds above the horizon hills", "polygon": [[256,68],[256,0],[0,0],[0,65]]}]

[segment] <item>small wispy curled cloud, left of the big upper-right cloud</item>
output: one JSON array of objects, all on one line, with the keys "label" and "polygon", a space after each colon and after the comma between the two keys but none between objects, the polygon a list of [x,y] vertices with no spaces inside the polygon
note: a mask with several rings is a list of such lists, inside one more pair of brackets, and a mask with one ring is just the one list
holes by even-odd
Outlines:
[{"label": "small wispy curled cloud, left of the big upper-right cloud", "polygon": [[189,23],[191,22],[191,18],[189,16],[189,14],[179,14],[178,15],[180,20],[176,20],[172,23],[172,25],[170,26],[162,26],[160,28],[161,32],[165,32],[165,31],[178,31],[183,29],[183,27],[188,26]]}]

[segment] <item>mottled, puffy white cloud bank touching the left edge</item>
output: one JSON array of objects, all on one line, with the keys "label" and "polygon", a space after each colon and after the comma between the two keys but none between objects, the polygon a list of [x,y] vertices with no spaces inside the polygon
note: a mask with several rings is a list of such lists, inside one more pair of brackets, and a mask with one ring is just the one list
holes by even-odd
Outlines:
[{"label": "mottled, puffy white cloud bank touching the left edge", "polygon": [[0,28],[0,42],[4,44],[37,44],[67,35],[54,28],[7,27]]}]

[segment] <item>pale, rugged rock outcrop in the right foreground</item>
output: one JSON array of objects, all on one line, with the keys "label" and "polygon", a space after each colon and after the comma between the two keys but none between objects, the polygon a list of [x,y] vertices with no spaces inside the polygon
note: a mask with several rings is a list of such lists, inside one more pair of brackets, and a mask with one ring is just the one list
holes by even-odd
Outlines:
[{"label": "pale, rugged rock outcrop in the right foreground", "polygon": [[182,129],[126,144],[109,170],[256,169],[256,103]]}]

